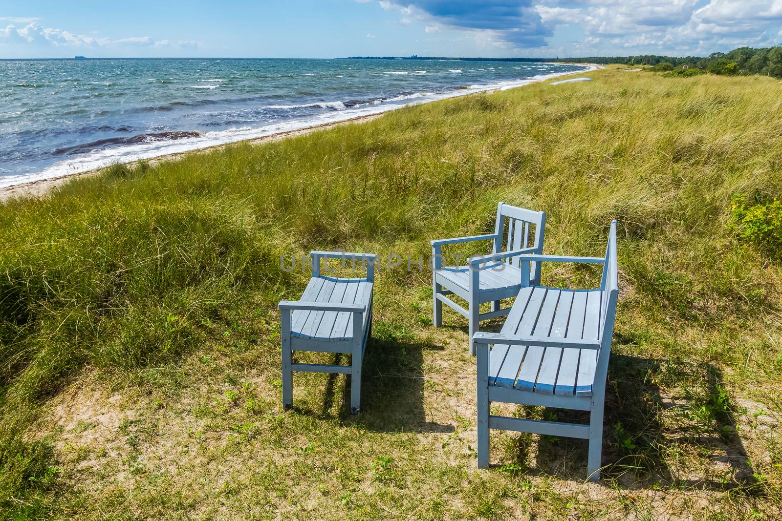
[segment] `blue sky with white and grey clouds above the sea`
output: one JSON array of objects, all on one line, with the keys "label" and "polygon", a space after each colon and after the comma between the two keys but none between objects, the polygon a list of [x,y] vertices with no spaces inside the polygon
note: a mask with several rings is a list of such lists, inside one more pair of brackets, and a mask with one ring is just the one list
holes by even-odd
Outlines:
[{"label": "blue sky with white and grey clouds above the sea", "polygon": [[782,42],[782,0],[0,0],[0,58],[708,55]]}]

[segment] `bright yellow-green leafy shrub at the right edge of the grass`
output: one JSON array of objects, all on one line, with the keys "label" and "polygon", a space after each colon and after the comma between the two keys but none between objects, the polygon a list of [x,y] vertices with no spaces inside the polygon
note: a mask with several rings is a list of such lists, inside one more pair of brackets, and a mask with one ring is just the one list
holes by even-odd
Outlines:
[{"label": "bright yellow-green leafy shrub at the right edge of the grass", "polygon": [[730,213],[742,241],[754,244],[771,259],[782,259],[782,201],[755,198],[748,203],[744,195],[737,195]]}]

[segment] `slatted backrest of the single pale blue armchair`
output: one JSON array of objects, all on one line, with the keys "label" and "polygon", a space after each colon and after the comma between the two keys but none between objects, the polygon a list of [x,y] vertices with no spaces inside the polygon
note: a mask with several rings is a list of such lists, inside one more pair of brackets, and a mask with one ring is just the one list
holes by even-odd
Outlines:
[{"label": "slatted backrest of the single pale blue armchair", "polygon": [[[522,248],[535,248],[543,255],[543,232],[546,227],[546,212],[534,212],[518,206],[497,205],[497,222],[492,253],[509,252]],[[518,268],[519,258],[511,257],[511,266]],[[532,262],[529,270],[530,283],[540,284],[540,262]]]}]

